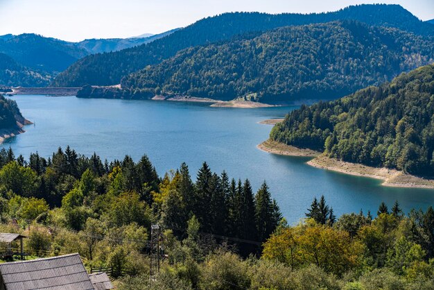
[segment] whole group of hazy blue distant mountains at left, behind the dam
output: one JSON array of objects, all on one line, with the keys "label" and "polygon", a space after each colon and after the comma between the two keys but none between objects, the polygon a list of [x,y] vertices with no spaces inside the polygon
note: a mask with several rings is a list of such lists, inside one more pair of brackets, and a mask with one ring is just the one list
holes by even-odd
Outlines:
[{"label": "whole group of hazy blue distant mountains at left, behind the dam", "polygon": [[[66,42],[33,33],[0,36],[0,85],[46,86],[53,76],[67,69],[78,59],[92,53],[119,51],[132,46],[152,42],[176,31],[167,31],[144,38],[92,39],[82,42]],[[12,65],[11,59],[15,62]],[[12,71],[15,73],[12,74]],[[9,77],[8,77],[9,76]]]}]

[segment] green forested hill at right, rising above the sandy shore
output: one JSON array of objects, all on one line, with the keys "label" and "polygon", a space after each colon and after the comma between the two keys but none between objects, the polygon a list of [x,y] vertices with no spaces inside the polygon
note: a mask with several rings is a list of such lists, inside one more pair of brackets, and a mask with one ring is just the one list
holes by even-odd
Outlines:
[{"label": "green forested hill at right, rising above the sandy shore", "polygon": [[434,176],[434,65],[290,112],[270,138],[329,157]]}]

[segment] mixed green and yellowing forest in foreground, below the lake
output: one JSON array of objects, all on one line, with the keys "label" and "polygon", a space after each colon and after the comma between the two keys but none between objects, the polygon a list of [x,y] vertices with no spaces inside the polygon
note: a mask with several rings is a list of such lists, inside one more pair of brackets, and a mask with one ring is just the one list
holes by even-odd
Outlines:
[{"label": "mixed green and yellowing forest in foreground, below the lake", "polygon": [[[118,289],[430,289],[434,210],[379,205],[336,217],[324,196],[288,225],[263,185],[253,194],[206,162],[158,176],[148,157],[102,161],[58,148],[28,160],[0,151],[0,230],[29,258],[80,253]],[[315,196],[315,193],[313,193]],[[162,228],[149,279],[150,225]],[[1,245],[0,245],[1,246]]]}]

